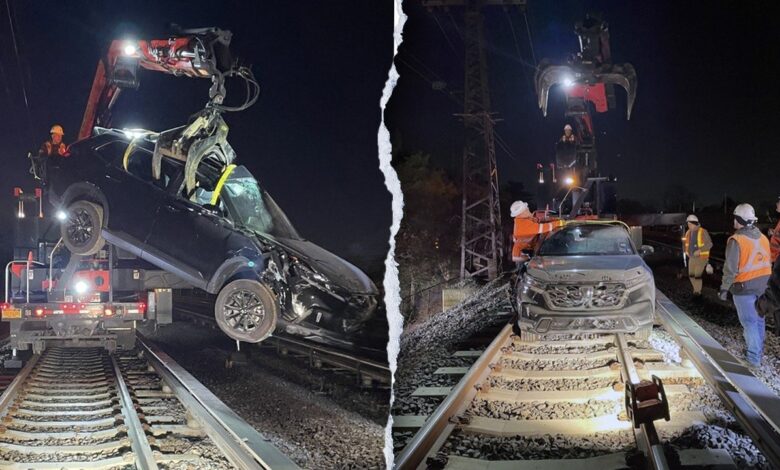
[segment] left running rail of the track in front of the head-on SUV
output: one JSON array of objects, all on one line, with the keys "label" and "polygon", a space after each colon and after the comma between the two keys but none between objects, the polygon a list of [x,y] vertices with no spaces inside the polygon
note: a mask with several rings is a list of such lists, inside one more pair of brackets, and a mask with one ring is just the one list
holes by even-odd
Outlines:
[{"label": "left running rail of the track in front of the head-on SUV", "polygon": [[491,364],[510,341],[511,335],[512,324],[509,323],[396,457],[395,468],[399,470],[425,468],[426,459],[435,455],[455,429],[454,419],[472,402],[477,394],[476,386],[490,374]]}]

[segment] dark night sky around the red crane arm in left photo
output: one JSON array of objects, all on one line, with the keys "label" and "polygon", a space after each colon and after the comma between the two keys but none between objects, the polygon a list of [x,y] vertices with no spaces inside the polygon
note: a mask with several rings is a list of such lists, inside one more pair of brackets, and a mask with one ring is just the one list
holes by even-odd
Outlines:
[{"label": "dark night sky around the red crane arm in left photo", "polygon": [[[38,148],[53,123],[65,127],[66,143],[75,139],[98,58],[112,39],[166,38],[170,23],[217,26],[233,32],[234,55],[253,66],[261,87],[252,108],[225,115],[238,162],[305,238],[364,269],[381,270],[391,208],[376,142],[379,100],[392,61],[391,0],[8,1],[21,70],[4,0],[4,225],[12,215],[11,188],[33,187],[27,151]],[[209,85],[142,71],[139,91],[120,97],[113,125],[163,130],[184,124],[205,104]],[[241,102],[243,93],[229,86],[227,101]]]}]

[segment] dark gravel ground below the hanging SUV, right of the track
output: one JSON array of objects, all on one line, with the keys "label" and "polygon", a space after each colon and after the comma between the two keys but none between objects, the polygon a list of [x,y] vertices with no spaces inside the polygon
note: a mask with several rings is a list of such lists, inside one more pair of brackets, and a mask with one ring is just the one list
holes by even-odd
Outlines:
[{"label": "dark gravel ground below the hanging SUV, right of the track", "polygon": [[[147,336],[302,468],[384,468],[384,419],[369,419],[340,400],[315,393],[284,377],[259,356],[250,364],[225,369],[232,342],[222,333],[177,322]],[[279,359],[287,362],[292,359]],[[356,388],[352,395],[361,393]],[[367,405],[353,400],[355,409]],[[387,416],[387,405],[379,416]],[[375,405],[375,408],[377,406]]]}]

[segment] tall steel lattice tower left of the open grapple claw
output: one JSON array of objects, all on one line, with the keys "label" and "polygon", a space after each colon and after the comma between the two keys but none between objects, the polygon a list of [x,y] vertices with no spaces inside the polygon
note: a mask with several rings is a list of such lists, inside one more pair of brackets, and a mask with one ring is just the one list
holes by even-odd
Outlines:
[{"label": "tall steel lattice tower left of the open grapple claw", "polygon": [[487,6],[518,6],[526,0],[423,0],[423,6],[463,7],[465,89],[463,118],[463,208],[460,277],[495,279],[503,259],[498,170],[490,111],[490,86],[482,11]]}]

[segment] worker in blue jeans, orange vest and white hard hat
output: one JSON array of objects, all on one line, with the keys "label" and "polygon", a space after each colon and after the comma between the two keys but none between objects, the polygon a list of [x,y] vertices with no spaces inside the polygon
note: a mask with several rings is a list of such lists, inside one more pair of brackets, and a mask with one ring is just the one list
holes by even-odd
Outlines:
[{"label": "worker in blue jeans, orange vest and white hard hat", "polygon": [[737,316],[745,336],[745,354],[753,367],[761,365],[766,324],[756,311],[756,299],[766,290],[772,274],[769,240],[756,227],[756,212],[750,204],[734,209],[734,228],[737,230],[726,242],[726,262],[720,299],[731,292]]}]

